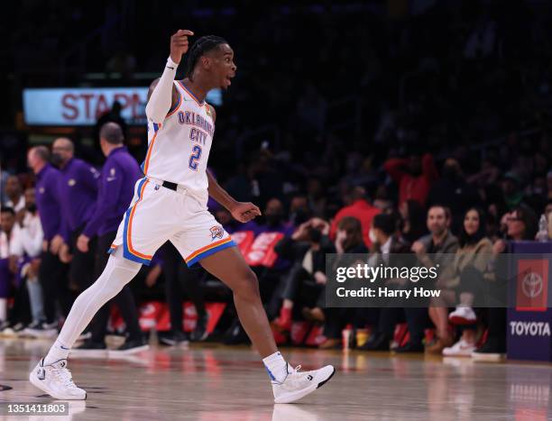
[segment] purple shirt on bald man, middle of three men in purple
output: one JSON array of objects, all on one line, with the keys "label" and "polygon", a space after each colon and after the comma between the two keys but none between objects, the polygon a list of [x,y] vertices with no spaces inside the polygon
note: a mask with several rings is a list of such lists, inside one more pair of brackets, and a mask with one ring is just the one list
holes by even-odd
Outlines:
[{"label": "purple shirt on bald man, middle of three men in purple", "polygon": [[97,169],[73,158],[60,169],[61,215],[70,231],[85,224],[94,214],[97,197]]}]

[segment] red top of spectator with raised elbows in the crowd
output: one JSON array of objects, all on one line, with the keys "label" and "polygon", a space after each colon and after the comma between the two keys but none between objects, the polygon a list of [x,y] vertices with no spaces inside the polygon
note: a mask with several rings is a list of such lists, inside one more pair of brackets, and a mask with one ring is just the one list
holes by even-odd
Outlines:
[{"label": "red top of spectator with raised elbows in the crowd", "polygon": [[413,199],[425,206],[429,189],[438,178],[433,157],[426,153],[410,155],[408,160],[392,158],[383,164],[383,168],[399,186],[399,206]]}]

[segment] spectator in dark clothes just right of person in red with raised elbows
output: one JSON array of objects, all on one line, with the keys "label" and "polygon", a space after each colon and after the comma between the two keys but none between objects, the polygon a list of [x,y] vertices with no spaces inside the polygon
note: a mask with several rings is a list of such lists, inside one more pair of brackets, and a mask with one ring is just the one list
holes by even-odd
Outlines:
[{"label": "spectator in dark clothes just right of person in red with raised elbows", "polygon": [[457,160],[448,158],[443,164],[441,178],[438,179],[428,194],[428,206],[442,205],[451,209],[451,231],[460,233],[465,212],[481,201],[477,190],[470,186]]}]

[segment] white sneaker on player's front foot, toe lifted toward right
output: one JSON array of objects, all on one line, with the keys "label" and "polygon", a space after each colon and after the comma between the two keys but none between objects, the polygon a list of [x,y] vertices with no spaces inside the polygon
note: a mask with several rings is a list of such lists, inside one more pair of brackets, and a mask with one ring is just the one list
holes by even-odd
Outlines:
[{"label": "white sneaker on player's front foot, toe lifted toward right", "polygon": [[330,380],[336,369],[327,365],[314,371],[299,371],[301,366],[292,369],[288,363],[288,376],[282,382],[272,380],[274,403],[289,404],[314,392]]}]

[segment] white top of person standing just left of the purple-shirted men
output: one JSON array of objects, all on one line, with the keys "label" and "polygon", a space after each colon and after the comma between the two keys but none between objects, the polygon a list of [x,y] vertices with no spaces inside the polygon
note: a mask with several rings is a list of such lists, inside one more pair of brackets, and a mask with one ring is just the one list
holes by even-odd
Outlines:
[{"label": "white top of person standing just left of the purple-shirted men", "polygon": [[42,251],[43,239],[41,218],[38,213],[32,215],[31,212],[27,212],[23,218],[23,227],[14,224],[9,252],[14,256],[26,254],[29,257],[38,257]]}]

